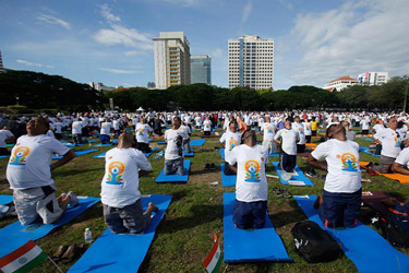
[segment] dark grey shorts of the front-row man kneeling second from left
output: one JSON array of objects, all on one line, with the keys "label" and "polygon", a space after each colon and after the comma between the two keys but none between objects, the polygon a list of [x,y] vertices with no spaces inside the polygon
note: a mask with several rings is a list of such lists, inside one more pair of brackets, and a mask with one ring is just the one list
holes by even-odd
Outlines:
[{"label": "dark grey shorts of the front-row man kneeling second from left", "polygon": [[143,213],[141,199],[123,207],[103,206],[105,224],[113,234],[142,234],[151,223],[149,215]]}]

